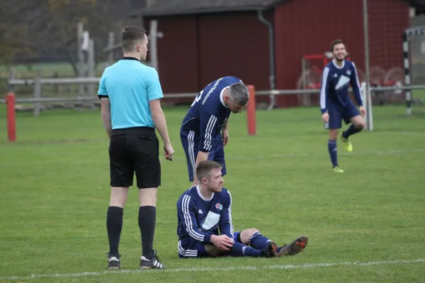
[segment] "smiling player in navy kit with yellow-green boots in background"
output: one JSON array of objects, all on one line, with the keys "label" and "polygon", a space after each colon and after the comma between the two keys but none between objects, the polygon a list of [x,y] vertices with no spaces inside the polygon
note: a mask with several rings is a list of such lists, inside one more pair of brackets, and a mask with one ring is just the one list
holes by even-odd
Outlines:
[{"label": "smiling player in navy kit with yellow-green boots in background", "polygon": [[[345,59],[346,47],[342,40],[335,40],[331,44],[331,52],[334,59],[323,69],[322,86],[320,89],[320,110],[322,110],[322,120],[329,129],[328,150],[331,157],[333,171],[344,173],[338,165],[336,150],[336,139],[338,129],[341,128],[341,120],[346,124],[351,122],[350,127],[341,134],[341,141],[344,143],[346,151],[353,151],[351,141],[348,140],[352,134],[361,132],[365,127],[363,116],[363,100],[361,98],[360,83],[356,65]],[[348,96],[348,86],[353,88],[361,114]]]}]

